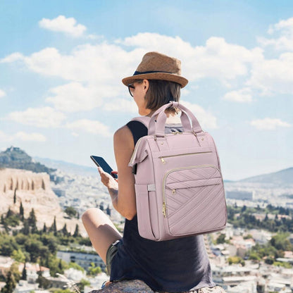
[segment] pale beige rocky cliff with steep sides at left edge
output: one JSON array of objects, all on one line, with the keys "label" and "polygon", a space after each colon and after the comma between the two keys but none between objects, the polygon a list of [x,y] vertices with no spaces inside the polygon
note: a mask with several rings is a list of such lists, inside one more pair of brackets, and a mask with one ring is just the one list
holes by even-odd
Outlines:
[{"label": "pale beige rocky cliff with steep sides at left edge", "polygon": [[[16,197],[14,203],[14,194]],[[51,189],[51,182],[47,173],[33,173],[30,170],[3,168],[0,170],[0,215],[11,208],[19,212],[20,202],[23,204],[24,216],[29,216],[32,208],[37,217],[37,226],[42,228],[44,223],[50,227],[56,216],[56,224],[60,230],[66,223],[69,232],[74,232],[75,225],[80,220],[68,219],[58,202],[58,197]]]}]

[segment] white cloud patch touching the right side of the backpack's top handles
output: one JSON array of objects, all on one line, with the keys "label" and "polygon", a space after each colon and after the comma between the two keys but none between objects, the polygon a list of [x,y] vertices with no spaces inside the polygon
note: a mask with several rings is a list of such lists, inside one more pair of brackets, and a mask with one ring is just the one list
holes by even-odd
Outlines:
[{"label": "white cloud patch touching the right side of the backpack's top handles", "polygon": [[180,101],[180,103],[183,106],[189,108],[190,111],[192,111],[197,120],[199,120],[199,124],[201,125],[201,128],[203,128],[203,130],[218,127],[216,117],[208,111],[204,110],[204,108],[202,108],[201,106],[189,103],[189,101]]}]

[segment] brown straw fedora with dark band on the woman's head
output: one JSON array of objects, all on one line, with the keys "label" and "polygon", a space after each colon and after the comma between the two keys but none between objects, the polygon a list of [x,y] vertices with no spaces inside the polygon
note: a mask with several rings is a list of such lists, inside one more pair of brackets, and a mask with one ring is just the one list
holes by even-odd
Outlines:
[{"label": "brown straw fedora with dark band on the woman's head", "polygon": [[122,82],[127,86],[135,80],[168,80],[179,83],[181,87],[188,83],[188,80],[181,76],[181,61],[158,52],[146,53],[135,73],[123,78]]}]

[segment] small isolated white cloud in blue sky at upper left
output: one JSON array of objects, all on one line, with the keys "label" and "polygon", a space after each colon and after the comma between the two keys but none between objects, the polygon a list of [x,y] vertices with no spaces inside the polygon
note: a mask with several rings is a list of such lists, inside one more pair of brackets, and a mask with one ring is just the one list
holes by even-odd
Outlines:
[{"label": "small isolated white cloud in blue sky at upper left", "polygon": [[39,21],[39,26],[54,32],[64,32],[71,37],[81,37],[87,30],[85,25],[77,24],[75,18],[66,18],[64,15],[51,20],[43,18]]}]

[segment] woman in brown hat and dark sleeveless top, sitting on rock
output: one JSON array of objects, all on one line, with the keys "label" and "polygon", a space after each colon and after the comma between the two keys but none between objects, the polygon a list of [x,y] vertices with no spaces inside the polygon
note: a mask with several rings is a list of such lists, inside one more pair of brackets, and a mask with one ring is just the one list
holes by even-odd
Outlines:
[{"label": "woman in brown hat and dark sleeveless top, sitting on rock", "polygon": [[[187,85],[180,75],[181,63],[176,58],[149,52],[144,55],[135,74],[123,79],[142,116],[151,116],[169,101],[179,101],[180,88]],[[176,109],[168,108],[166,132],[182,125],[174,124]],[[180,118],[179,123],[180,123]],[[213,287],[211,268],[202,235],[154,242],[139,236],[137,228],[135,179],[128,167],[139,137],[147,135],[147,128],[138,121],[130,121],[114,135],[114,151],[118,166],[119,185],[111,175],[99,168],[101,182],[108,187],[114,208],[125,219],[123,237],[104,212],[91,208],[82,221],[94,248],[106,263],[110,281],[139,279],[151,289],[183,292]],[[119,189],[118,189],[119,186]]]}]

